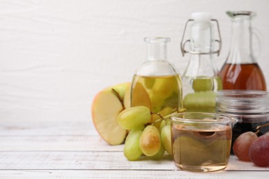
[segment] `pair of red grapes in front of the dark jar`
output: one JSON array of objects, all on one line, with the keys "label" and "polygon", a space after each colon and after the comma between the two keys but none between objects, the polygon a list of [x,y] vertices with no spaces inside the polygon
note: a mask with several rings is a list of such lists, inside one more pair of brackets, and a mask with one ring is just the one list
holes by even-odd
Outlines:
[{"label": "pair of red grapes in front of the dark jar", "polygon": [[232,147],[239,160],[251,161],[259,167],[269,166],[269,131],[257,136],[252,131],[241,134]]}]

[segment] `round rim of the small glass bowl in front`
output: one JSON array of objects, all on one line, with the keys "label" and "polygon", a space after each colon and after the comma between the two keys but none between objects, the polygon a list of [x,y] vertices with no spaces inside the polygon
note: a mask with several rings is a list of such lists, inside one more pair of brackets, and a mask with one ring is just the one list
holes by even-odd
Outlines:
[{"label": "round rim of the small glass bowl in front", "polygon": [[[184,115],[200,115],[205,116],[205,118],[183,118]],[[217,118],[206,118],[206,117],[217,117]],[[230,116],[228,114],[218,114],[218,113],[207,113],[207,112],[180,112],[172,114],[170,119],[175,122],[184,123],[236,123],[237,118]]]}]

